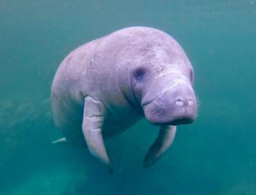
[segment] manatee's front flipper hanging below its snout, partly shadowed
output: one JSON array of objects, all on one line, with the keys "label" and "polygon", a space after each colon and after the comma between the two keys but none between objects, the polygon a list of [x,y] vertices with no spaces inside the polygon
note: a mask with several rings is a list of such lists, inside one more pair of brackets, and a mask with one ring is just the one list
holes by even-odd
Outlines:
[{"label": "manatee's front flipper hanging below its snout, partly shadowed", "polygon": [[154,164],[161,155],[172,145],[176,133],[176,126],[161,126],[156,141],[149,148],[144,159],[144,167]]}]

